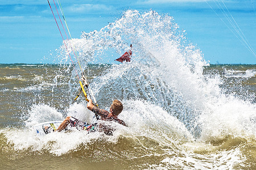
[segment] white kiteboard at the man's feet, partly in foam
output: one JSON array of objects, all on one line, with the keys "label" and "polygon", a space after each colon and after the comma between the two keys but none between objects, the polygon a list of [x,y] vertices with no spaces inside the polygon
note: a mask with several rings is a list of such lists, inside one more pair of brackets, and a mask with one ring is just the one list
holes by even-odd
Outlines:
[{"label": "white kiteboard at the man's feet, partly in foam", "polygon": [[60,124],[62,122],[63,121],[42,122],[40,124],[36,124],[36,125],[32,126],[32,129],[38,135],[45,135],[45,134],[55,131],[60,126]]}]

